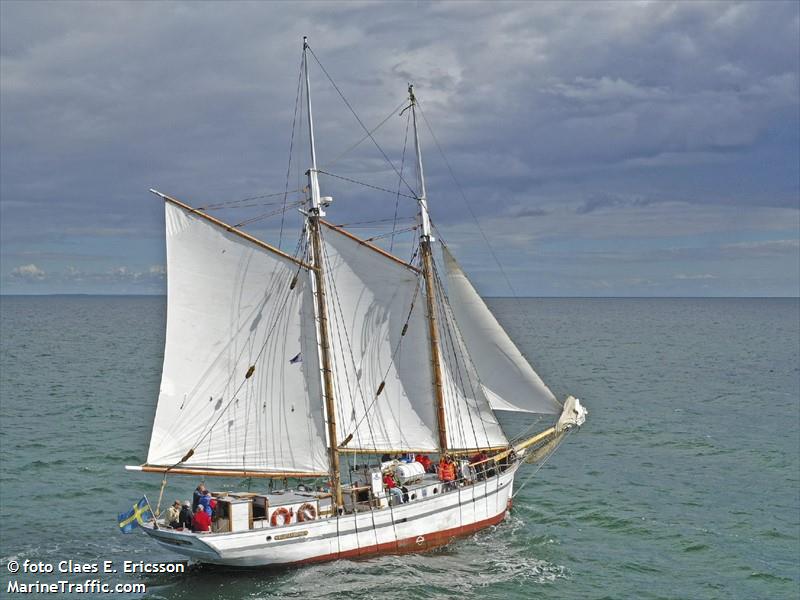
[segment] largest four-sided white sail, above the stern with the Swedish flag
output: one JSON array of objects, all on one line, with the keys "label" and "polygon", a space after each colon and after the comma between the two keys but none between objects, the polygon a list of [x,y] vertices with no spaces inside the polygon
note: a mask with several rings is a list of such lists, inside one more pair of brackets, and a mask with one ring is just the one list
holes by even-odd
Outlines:
[{"label": "largest four-sided white sail, above the stern with the Swedish flag", "polygon": [[167,335],[148,464],[193,449],[182,467],[326,472],[307,272],[171,203],[166,229]]}]

